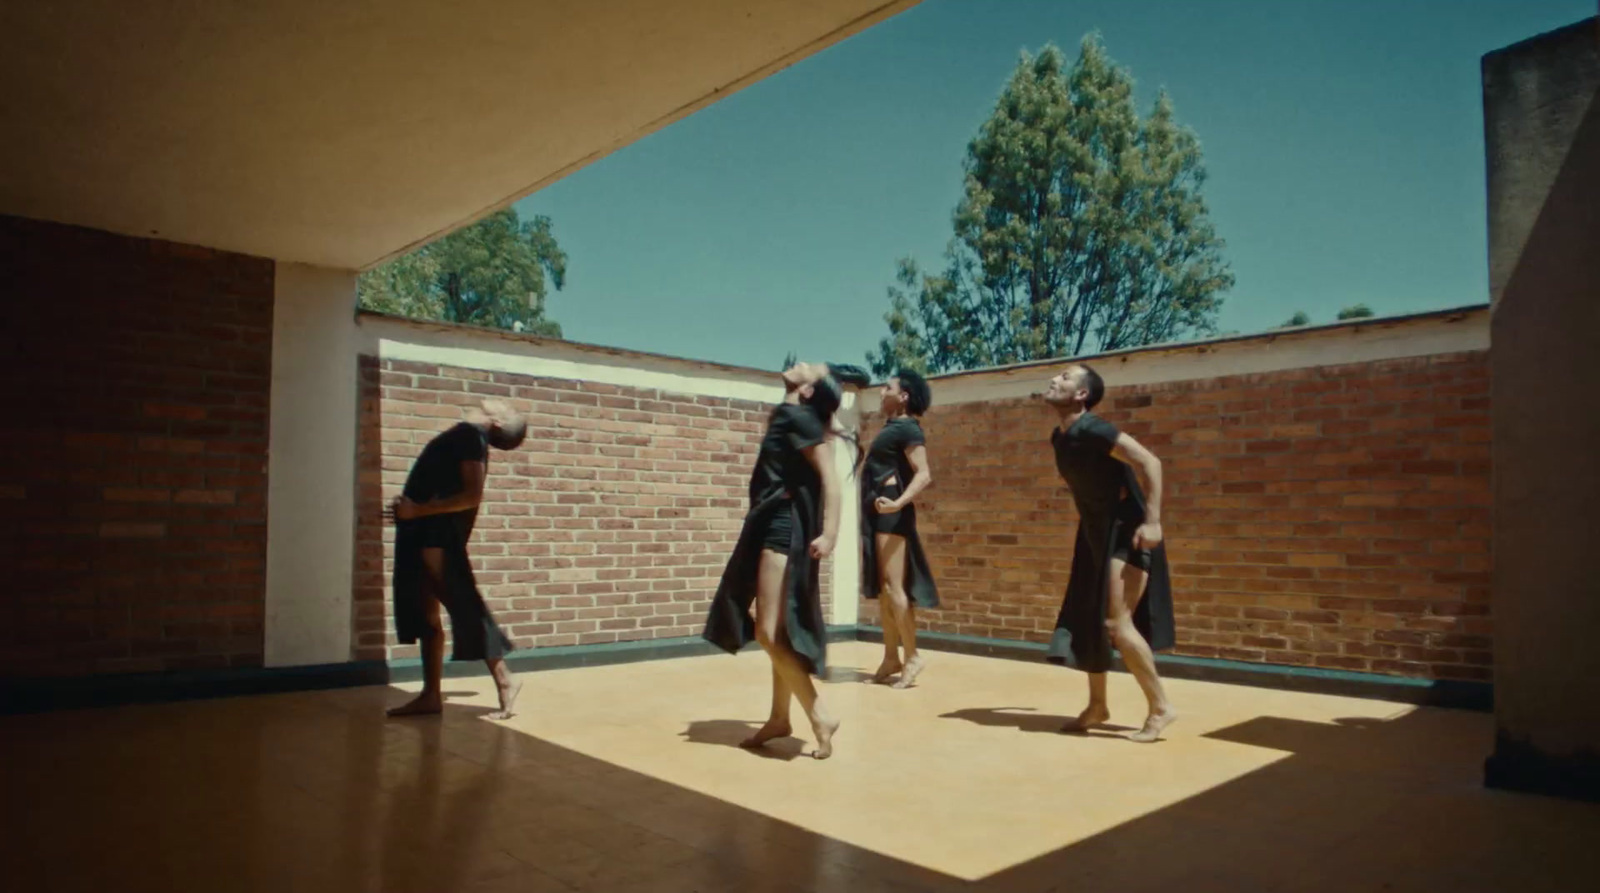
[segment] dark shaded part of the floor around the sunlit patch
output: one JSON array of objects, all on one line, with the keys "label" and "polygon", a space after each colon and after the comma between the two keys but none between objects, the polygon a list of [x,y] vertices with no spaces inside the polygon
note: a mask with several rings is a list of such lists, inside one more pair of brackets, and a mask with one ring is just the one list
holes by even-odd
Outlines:
[{"label": "dark shaded part of the floor around the sunlit patch", "polygon": [[[307,893],[1501,893],[1584,888],[1581,866],[1600,839],[1594,805],[1482,789],[1490,741],[1478,714],[1258,717],[1203,738],[1270,749],[1277,762],[968,883],[486,722],[486,707],[386,722],[400,696],[6,717],[0,763],[29,771],[0,775],[0,797],[26,803],[29,821],[0,839],[0,866],[18,890],[168,893],[224,877],[237,890]],[[958,714],[1026,731],[1064,719]],[[685,738],[731,749],[752,728],[707,720]],[[818,767],[826,784],[829,763]],[[1152,767],[1182,771],[1165,759]],[[1070,789],[1059,803],[1088,808]]]}]

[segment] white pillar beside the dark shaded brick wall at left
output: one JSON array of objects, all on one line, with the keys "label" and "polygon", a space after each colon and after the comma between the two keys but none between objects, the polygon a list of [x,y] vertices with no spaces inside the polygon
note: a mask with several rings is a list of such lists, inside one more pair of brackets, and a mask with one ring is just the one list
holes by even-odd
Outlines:
[{"label": "white pillar beside the dark shaded brick wall at left", "polygon": [[266,666],[350,659],[355,270],[277,266],[267,456]]}]

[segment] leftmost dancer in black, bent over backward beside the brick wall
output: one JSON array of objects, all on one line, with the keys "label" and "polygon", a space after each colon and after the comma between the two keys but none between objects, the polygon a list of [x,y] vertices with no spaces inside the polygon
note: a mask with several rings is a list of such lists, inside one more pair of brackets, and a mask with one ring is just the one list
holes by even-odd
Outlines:
[{"label": "leftmost dancer in black, bent over backward beside the brick wall", "polygon": [[392,717],[437,714],[443,709],[440,675],[445,666],[445,631],[438,607],[450,611],[454,661],[483,661],[499,690],[501,709],[490,719],[507,719],[522,682],[506,667],[510,640],[496,626],[467,559],[467,538],[483,501],[488,448],[515,450],[526,424],[506,405],[486,400],[450,430],[422,448],[411,464],[403,495],[386,512],[395,520],[395,632],[403,645],[422,640],[422,693],[389,711]]}]

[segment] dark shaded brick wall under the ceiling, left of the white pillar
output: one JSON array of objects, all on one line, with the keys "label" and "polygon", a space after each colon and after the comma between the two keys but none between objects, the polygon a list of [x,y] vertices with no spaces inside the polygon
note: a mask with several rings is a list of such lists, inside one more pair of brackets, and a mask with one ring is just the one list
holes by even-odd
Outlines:
[{"label": "dark shaded brick wall under the ceiling, left of the white pillar", "polygon": [[272,270],[0,218],[0,674],[261,664]]}]

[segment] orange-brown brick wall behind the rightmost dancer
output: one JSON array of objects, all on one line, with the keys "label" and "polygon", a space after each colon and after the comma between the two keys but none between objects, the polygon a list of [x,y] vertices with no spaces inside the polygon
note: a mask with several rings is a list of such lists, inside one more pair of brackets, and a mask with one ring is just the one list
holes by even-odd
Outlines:
[{"label": "orange-brown brick wall behind the rightmost dancer", "polygon": [[[1488,386],[1486,352],[1112,379],[1101,414],[1166,475],[1176,653],[1488,680]],[[944,600],[926,626],[1048,640],[1075,531],[1054,413],[1003,400],[923,421],[936,483],[918,520]]]}]

